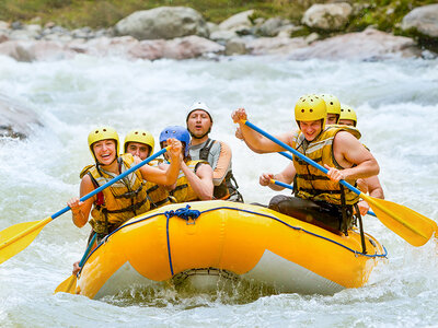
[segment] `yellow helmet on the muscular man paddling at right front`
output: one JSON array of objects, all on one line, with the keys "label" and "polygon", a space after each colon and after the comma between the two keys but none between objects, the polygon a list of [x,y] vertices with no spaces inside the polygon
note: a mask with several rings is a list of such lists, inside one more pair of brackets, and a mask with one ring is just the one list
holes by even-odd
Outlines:
[{"label": "yellow helmet on the muscular man paddling at right front", "polygon": [[[324,129],[327,119],[327,109],[324,99],[316,94],[301,96],[295,105],[295,119],[297,124],[300,120],[322,119],[322,129]],[[298,124],[298,127],[299,126]]]}]

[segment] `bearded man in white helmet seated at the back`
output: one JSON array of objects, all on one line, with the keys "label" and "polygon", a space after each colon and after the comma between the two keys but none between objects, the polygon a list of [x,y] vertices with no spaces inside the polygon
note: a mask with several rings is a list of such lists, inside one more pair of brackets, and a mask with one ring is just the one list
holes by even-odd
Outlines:
[{"label": "bearded man in white helmet seated at the back", "polygon": [[205,103],[194,103],[188,108],[186,124],[192,136],[189,150],[192,160],[207,161],[214,169],[214,198],[243,202],[231,171],[230,147],[223,141],[211,140],[208,137],[212,127],[210,108]]}]

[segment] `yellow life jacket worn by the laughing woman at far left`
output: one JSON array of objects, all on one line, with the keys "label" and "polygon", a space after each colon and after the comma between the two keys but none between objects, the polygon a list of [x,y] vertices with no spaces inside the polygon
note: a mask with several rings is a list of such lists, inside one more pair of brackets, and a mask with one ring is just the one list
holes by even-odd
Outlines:
[{"label": "yellow life jacket worn by the laughing woman at far left", "polygon": [[[131,154],[117,157],[120,174],[134,164]],[[95,188],[105,185],[117,175],[108,173],[99,165],[89,165],[82,169],[80,177],[88,174]],[[108,234],[127,220],[142,214],[150,209],[141,173],[137,169],[123,179],[114,183],[96,195],[89,221],[99,234]]]}]

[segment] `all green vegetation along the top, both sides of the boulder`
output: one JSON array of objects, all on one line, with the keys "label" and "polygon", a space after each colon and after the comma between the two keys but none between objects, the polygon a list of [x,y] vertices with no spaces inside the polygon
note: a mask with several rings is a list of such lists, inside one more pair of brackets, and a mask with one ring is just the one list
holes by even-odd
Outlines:
[{"label": "all green vegetation along the top, both sides of the boulder", "polygon": [[[280,16],[299,24],[303,12],[323,0],[0,0],[0,20],[24,23],[54,22],[77,28],[110,27],[137,10],[161,5],[185,5],[199,11],[207,21],[219,23],[227,17],[254,9],[253,19]],[[436,0],[350,0],[354,16],[346,32],[362,31],[369,25],[401,34],[399,25],[413,8],[436,3]],[[307,28],[301,33],[310,33]]]}]

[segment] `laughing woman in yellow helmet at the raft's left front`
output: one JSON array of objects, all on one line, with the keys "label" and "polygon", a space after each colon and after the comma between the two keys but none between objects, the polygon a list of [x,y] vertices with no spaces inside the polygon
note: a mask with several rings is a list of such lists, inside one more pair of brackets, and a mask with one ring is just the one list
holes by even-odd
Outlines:
[{"label": "laughing woman in yellow helmet at the raft's left front", "polygon": [[[87,166],[80,175],[80,197],[140,163],[140,159],[134,157],[129,153],[119,155],[118,134],[113,128],[93,129],[89,134],[88,142],[95,164]],[[143,165],[84,202],[80,201],[78,197],[70,199],[67,204],[71,208],[73,223],[79,227],[85,225],[91,211],[90,224],[93,231],[102,237],[130,218],[148,211],[150,204],[143,188],[143,179],[155,184],[171,185],[177,178],[181,142],[170,139],[168,143],[172,145],[169,150],[172,164],[168,169],[162,171]]]}]

